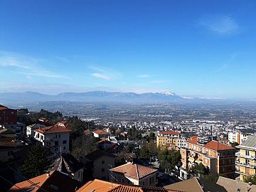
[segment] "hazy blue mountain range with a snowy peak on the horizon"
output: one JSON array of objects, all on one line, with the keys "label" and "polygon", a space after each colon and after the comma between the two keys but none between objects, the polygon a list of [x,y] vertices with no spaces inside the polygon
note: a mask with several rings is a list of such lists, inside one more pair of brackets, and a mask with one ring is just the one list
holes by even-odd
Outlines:
[{"label": "hazy blue mountain range with a snowy peak on the horizon", "polygon": [[72,102],[181,102],[188,99],[176,95],[174,92],[63,92],[58,95],[45,95],[39,92],[5,92],[0,93],[0,103],[28,103],[44,101],[72,101]]}]

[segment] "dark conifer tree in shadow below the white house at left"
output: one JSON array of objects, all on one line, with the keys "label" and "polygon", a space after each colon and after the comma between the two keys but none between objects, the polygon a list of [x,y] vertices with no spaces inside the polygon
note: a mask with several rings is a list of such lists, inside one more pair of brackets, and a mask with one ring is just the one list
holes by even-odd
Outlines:
[{"label": "dark conifer tree in shadow below the white house at left", "polygon": [[24,161],[21,174],[32,178],[46,173],[50,161],[47,159],[47,151],[42,146],[36,145],[28,151],[28,159]]}]

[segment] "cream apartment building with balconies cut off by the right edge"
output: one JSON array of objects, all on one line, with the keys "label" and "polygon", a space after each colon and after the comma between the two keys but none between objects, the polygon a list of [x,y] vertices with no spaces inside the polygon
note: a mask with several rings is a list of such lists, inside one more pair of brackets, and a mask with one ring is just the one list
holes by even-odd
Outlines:
[{"label": "cream apartment building with balconies cut off by the right edge", "polygon": [[240,175],[240,181],[244,177],[255,176],[256,174],[256,136],[248,136],[245,142],[236,146],[239,151],[235,155],[238,157],[235,162]]}]

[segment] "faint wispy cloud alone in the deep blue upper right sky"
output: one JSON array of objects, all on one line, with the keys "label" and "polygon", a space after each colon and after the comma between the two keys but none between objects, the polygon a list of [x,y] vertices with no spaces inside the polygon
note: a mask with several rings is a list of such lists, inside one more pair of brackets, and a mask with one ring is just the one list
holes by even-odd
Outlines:
[{"label": "faint wispy cloud alone in the deep blue upper right sky", "polygon": [[202,18],[199,25],[208,28],[210,31],[218,33],[219,35],[228,35],[238,31],[238,23],[235,18],[230,15],[226,16],[210,16]]}]

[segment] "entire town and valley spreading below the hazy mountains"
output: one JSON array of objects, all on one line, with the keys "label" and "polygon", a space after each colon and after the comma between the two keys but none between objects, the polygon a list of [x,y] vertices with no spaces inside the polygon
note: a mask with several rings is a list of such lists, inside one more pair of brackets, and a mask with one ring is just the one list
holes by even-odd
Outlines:
[{"label": "entire town and valley spreading below the hazy mountains", "polygon": [[[55,177],[73,183],[70,191],[256,188],[255,102],[47,101],[11,106],[17,110],[0,106],[4,191],[20,191],[36,181],[42,184],[36,190],[65,190]],[[48,165],[32,174],[26,169],[33,160],[26,159],[32,151],[39,153],[36,147],[46,149]],[[24,181],[26,177],[31,179]]]}]

